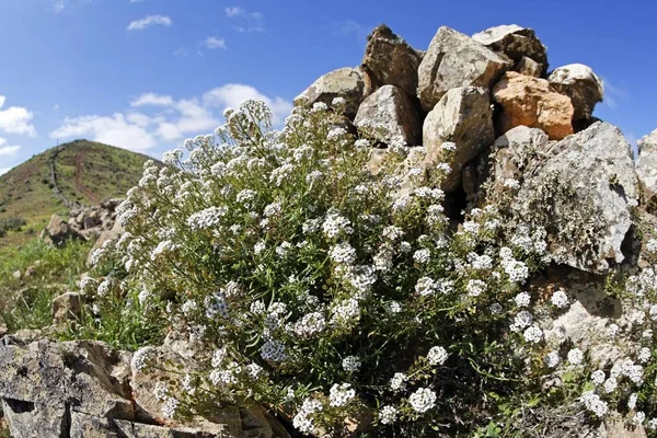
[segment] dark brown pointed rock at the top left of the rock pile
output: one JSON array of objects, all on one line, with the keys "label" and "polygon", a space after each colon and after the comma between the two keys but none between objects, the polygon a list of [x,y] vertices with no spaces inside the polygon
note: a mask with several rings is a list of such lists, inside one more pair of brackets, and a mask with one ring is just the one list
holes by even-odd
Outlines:
[{"label": "dark brown pointed rock at the top left of the rock pile", "polygon": [[381,24],[368,36],[360,66],[366,93],[370,94],[383,85],[394,85],[415,96],[419,62],[422,54]]}]

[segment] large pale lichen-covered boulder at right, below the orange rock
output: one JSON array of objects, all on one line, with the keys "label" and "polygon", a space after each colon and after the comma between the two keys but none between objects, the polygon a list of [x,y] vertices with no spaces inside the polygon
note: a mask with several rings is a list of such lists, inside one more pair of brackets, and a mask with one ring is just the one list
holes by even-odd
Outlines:
[{"label": "large pale lichen-covered boulder at right, below the orange rock", "polygon": [[638,196],[631,147],[618,128],[598,122],[551,150],[554,157],[525,175],[514,208],[521,220],[546,229],[557,263],[607,273],[625,260]]}]

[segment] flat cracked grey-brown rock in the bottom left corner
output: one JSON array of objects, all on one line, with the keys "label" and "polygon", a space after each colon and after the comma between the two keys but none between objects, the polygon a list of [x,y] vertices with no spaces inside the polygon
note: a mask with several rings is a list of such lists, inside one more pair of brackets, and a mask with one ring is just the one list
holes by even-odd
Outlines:
[{"label": "flat cracked grey-brown rock in the bottom left corner", "polygon": [[71,412],[132,416],[129,355],[95,342],[0,347],[0,396],[13,437],[69,436]]}]

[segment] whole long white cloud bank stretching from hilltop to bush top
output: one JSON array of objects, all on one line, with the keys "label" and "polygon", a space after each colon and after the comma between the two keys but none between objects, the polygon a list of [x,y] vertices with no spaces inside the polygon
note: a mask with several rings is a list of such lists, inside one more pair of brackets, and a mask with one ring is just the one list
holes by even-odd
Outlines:
[{"label": "whole long white cloud bank stretching from hilltop to bush top", "polygon": [[50,137],[87,137],[139,151],[157,145],[173,146],[186,137],[211,132],[221,124],[223,110],[237,108],[247,99],[265,101],[274,113],[275,124],[280,124],[292,108],[283,97],[267,96],[241,83],[218,87],[200,99],[174,100],[169,95],[143,93],[130,102],[131,110],[125,114],[67,117]]}]

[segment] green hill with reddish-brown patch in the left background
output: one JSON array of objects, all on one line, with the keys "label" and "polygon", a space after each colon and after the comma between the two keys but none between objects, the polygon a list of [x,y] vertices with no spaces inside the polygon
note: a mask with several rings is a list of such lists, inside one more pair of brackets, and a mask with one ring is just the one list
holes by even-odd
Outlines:
[{"label": "green hill with reddish-brown patch in the left background", "polygon": [[[0,176],[0,227],[20,226],[0,235],[0,247],[21,243],[73,204],[95,205],[123,196],[136,185],[149,157],[125,149],[76,140],[34,155]],[[0,231],[0,234],[2,232]]]}]

